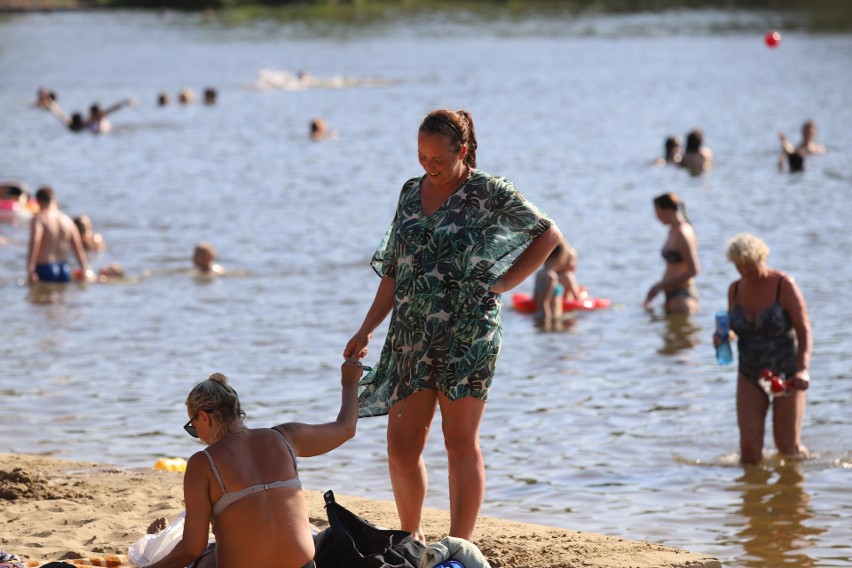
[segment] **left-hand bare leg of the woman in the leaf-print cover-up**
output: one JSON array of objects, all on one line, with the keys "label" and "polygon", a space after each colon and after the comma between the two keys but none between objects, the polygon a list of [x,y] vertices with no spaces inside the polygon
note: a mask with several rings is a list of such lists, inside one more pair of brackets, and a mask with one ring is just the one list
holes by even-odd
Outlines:
[{"label": "left-hand bare leg of the woman in the leaf-print cover-up", "polygon": [[435,416],[437,391],[416,392],[388,414],[388,469],[400,528],[423,540],[420,518],[429,485],[423,448]]}]

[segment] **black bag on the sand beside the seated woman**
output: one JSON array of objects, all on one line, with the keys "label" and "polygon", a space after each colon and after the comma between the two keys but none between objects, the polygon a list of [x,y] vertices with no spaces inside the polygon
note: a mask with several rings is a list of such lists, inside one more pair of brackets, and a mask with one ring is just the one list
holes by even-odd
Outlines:
[{"label": "black bag on the sand beside the seated woman", "polygon": [[317,568],[418,568],[426,546],[410,532],[379,528],[326,491],[329,528],[317,546]]}]

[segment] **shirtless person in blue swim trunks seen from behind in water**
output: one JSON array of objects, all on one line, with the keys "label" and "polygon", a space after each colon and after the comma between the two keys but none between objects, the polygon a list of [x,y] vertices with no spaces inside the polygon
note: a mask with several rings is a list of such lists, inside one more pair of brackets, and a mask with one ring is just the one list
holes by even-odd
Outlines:
[{"label": "shirtless person in blue swim trunks seen from behind in water", "polygon": [[80,232],[71,217],[59,210],[53,189],[42,187],[36,192],[41,211],[33,216],[27,275],[30,282],[70,282],[69,248],[80,263],[81,273],[89,277],[89,261]]}]

